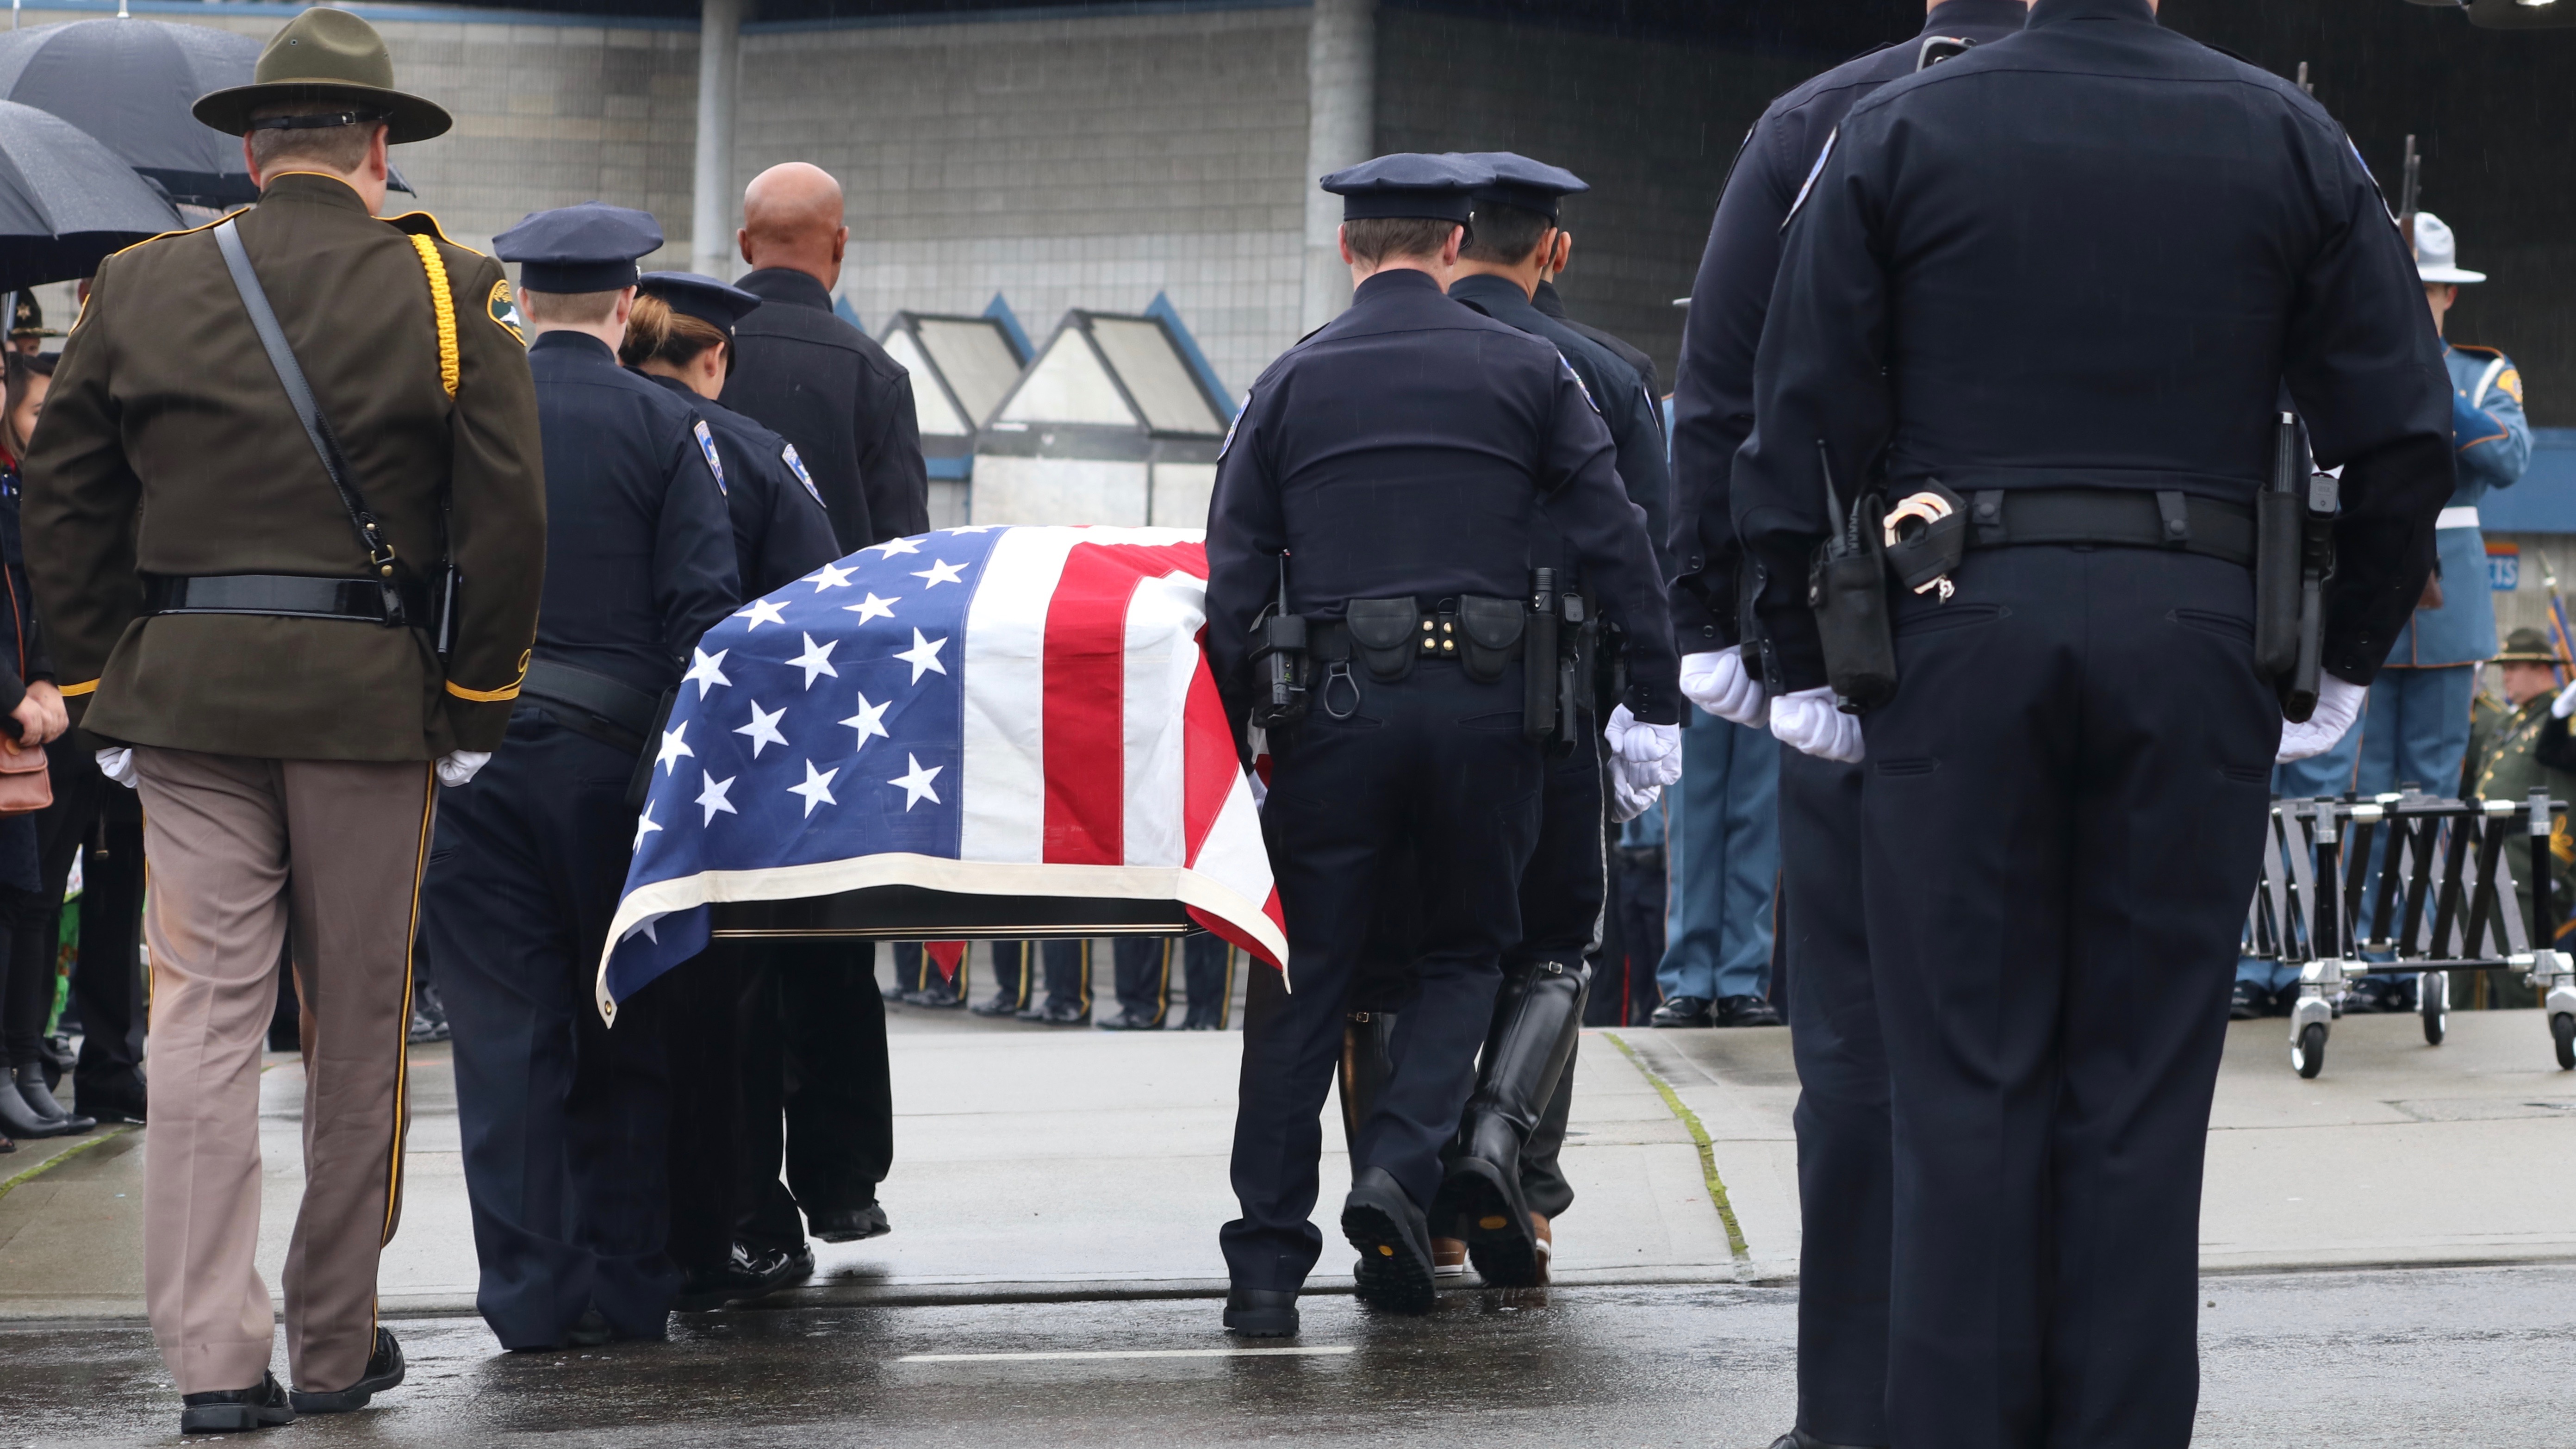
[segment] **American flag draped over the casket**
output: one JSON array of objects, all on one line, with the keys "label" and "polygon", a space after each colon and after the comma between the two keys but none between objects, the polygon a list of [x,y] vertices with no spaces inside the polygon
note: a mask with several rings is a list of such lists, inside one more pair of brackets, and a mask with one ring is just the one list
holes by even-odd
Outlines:
[{"label": "American flag draped over the casket", "polygon": [[1180,901],[1288,957],[1180,528],[948,528],[744,605],[654,741],[600,1014],[706,950],[708,903],[920,885]]}]

